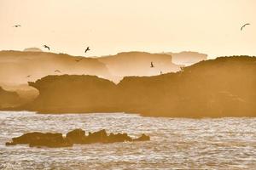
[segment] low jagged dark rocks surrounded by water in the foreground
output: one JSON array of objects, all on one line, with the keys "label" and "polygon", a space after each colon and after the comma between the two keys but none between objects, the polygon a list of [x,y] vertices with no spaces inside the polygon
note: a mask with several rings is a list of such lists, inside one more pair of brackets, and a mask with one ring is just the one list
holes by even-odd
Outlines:
[{"label": "low jagged dark rocks surrounded by water in the foreground", "polygon": [[11,142],[5,145],[29,144],[30,147],[70,147],[73,144],[111,144],[116,142],[148,141],[150,137],[143,134],[137,139],[131,139],[127,133],[108,133],[105,129],[90,133],[86,136],[85,131],[78,128],[66,134],[63,137],[61,133],[25,133],[20,137],[13,138]]}]

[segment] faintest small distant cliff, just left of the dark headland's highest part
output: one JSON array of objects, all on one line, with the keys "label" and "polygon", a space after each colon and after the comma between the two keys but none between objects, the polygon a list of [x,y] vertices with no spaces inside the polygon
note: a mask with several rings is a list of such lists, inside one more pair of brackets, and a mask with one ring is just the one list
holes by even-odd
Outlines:
[{"label": "faintest small distant cliff, just left of the dark headland's highest part", "polygon": [[207,60],[207,54],[183,51],[180,53],[166,53],[172,55],[172,62],[177,65],[194,65],[202,60]]}]

